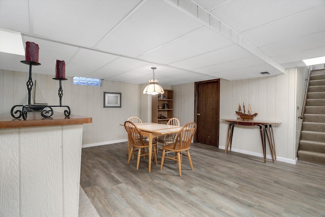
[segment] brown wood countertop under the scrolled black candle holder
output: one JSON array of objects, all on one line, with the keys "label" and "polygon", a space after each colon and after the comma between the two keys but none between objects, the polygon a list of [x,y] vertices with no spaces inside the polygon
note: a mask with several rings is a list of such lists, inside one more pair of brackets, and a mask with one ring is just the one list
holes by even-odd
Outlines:
[{"label": "brown wood countertop under the scrolled black candle holder", "polygon": [[51,117],[42,117],[40,112],[28,112],[26,120],[24,120],[22,117],[14,118],[11,116],[11,114],[0,115],[0,129],[80,125],[83,123],[91,122],[91,117],[84,117],[73,114],[71,114],[69,117],[66,117],[63,113],[60,112],[54,112]]}]

